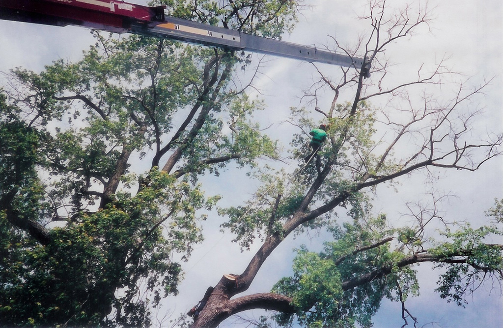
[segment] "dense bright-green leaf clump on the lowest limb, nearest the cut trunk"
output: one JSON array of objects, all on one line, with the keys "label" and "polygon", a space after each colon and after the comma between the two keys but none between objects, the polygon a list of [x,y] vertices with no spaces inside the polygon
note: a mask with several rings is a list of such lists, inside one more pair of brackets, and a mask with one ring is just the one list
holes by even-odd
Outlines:
[{"label": "dense bright-green leaf clump on the lowest limb, nearest the cut trunk", "polygon": [[[334,241],[326,242],[319,254],[298,250],[293,276],[281,279],[273,291],[292,297],[295,318],[305,326],[370,326],[381,299],[394,297],[397,282],[406,293],[416,294],[418,289],[415,272],[398,268],[368,284],[343,288],[343,282],[370,274],[400,257],[390,252],[388,244],[359,251],[392,234],[385,225],[385,216],[366,220],[360,216],[352,224],[344,224],[344,229],[333,226]],[[287,325],[293,317],[280,315],[277,319]]]}]

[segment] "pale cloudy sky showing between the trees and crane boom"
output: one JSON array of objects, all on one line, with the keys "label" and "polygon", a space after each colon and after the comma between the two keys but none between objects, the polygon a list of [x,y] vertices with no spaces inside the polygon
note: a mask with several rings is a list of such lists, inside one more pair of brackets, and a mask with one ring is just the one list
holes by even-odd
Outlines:
[{"label": "pale cloudy sky showing between the trees and crane boom", "polygon": [[[136,3],[145,2],[137,0]],[[355,19],[357,13],[362,11],[365,0],[312,0],[309,3],[313,6],[312,9],[300,17],[295,31],[285,36],[284,40],[306,45],[316,44],[321,48],[324,44],[330,44],[328,35],[336,37],[343,44],[351,44],[365,31],[365,25]],[[422,34],[400,47],[391,49],[388,57],[391,61],[403,65],[404,75],[407,74],[407,69],[413,71],[423,62],[435,63],[447,55],[454,70],[474,76],[473,82],[495,76],[493,83],[486,90],[486,110],[477,120],[476,128],[487,132],[501,131],[503,5],[500,1],[435,0],[429,2],[429,7],[436,7],[436,20],[431,25],[432,33],[428,34],[422,30]],[[58,28],[0,21],[0,70],[22,66],[40,71],[44,65],[60,58],[78,60],[82,50],[86,50],[94,42],[89,30],[84,28]],[[299,103],[302,90],[316,78],[315,71],[308,63],[272,57],[266,59],[263,74],[259,75],[255,82],[262,90],[259,96],[265,100],[267,108],[267,114],[261,120],[265,126],[273,125],[277,135],[290,134],[291,128],[280,123],[288,115],[289,106]],[[337,74],[339,70],[328,65],[320,67],[327,74]],[[402,76],[396,76],[397,79],[400,77]],[[225,181],[225,184],[214,185],[208,192],[215,194],[231,190],[235,194],[232,201],[247,199],[253,189],[242,190],[242,184],[237,178],[241,178],[242,173],[230,169],[220,180]],[[439,182],[441,189],[458,196],[443,204],[443,210],[451,220],[473,220],[481,217],[484,210],[493,204],[494,198],[503,197],[501,159],[472,174],[448,172],[439,175],[442,175]],[[377,210],[388,213],[388,216],[399,217],[399,213],[404,209],[403,205],[397,204],[424,197],[424,192],[428,191],[421,189],[421,186],[409,186],[406,179],[402,182],[400,193],[380,190],[375,201]],[[222,236],[218,232],[221,220],[218,217],[209,217],[205,226],[207,240],[197,247],[193,257],[184,267],[187,274],[186,280],[180,286],[180,296],[167,300],[163,311],[171,311],[174,315],[186,312],[197,303],[208,286],[218,282],[222,274],[242,272],[247,261],[253,256],[253,250],[256,248],[249,253],[240,253],[238,246],[230,243],[231,236]],[[268,291],[279,278],[288,275],[294,256],[292,249],[301,243],[313,250],[320,248],[318,239],[311,241],[289,238],[268,259],[249,292]],[[420,319],[420,326],[428,322],[437,322],[438,325],[429,325],[435,327],[503,326],[503,301],[499,286],[495,286],[492,291],[490,286],[485,286],[484,290],[475,293],[473,298],[469,297],[469,304],[463,309],[440,300],[438,294],[433,293],[438,275],[432,272],[430,267],[422,267],[421,277],[421,296],[408,301],[408,308]],[[158,317],[160,319],[162,314]],[[399,304],[384,302],[376,317],[375,326],[399,327],[402,323]]]}]

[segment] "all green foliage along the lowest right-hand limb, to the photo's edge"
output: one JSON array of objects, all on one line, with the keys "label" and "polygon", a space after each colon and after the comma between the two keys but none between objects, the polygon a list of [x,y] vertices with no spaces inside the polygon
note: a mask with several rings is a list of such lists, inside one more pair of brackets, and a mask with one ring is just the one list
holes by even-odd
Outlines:
[{"label": "all green foliage along the lowest right-hand limb, to the photo's edge", "polygon": [[[296,312],[277,314],[276,321],[283,326],[294,319],[308,327],[372,326],[372,316],[383,298],[405,302],[419,294],[413,265],[420,256],[443,268],[436,289],[440,297],[463,306],[466,295],[484,281],[503,278],[503,246],[487,243],[503,234],[497,221],[500,205],[496,200],[495,207],[487,211],[496,218],[494,225],[475,229],[463,224],[455,231],[441,232],[443,242],[417,250],[415,247],[425,245],[418,241],[416,230],[389,229],[385,215],[371,218],[369,208],[362,208],[352,223],[330,228],[334,241],[326,242],[322,252],[309,252],[305,247],[297,251],[293,275],[273,288],[292,298]],[[395,251],[389,243],[393,235],[398,236]],[[363,277],[366,280],[360,281]],[[360,282],[347,287],[356,281]]]}]

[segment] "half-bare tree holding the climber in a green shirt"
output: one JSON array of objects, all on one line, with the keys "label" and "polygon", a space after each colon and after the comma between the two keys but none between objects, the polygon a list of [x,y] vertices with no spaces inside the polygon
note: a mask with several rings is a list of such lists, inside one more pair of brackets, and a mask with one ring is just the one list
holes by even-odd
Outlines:
[{"label": "half-bare tree holding the climber in a green shirt", "polygon": [[[501,234],[499,210],[491,210],[494,220],[481,227],[465,224],[452,230],[435,207],[419,207],[412,211],[415,223],[395,226],[393,218],[372,212],[377,186],[403,181],[414,172],[428,177],[438,170],[478,170],[500,154],[502,139],[500,133],[491,133],[477,140],[471,130],[480,108],[473,103],[483,101],[481,92],[488,82],[445,87],[456,74],[444,61],[418,67],[400,79],[393,76],[399,70],[393,71],[386,50],[408,41],[416,29],[429,27],[427,7],[387,8],[384,1],[372,1],[361,19],[369,31],[355,47],[345,49],[336,41],[339,51],[371,62],[372,77],[365,79],[361,67],[332,76],[316,68],[319,80],[304,99],[314,107],[324,103],[318,95],[331,92],[332,101],[310,111],[292,111],[290,122],[299,129],[292,141],[298,170],[262,171],[264,183],[250,201],[220,210],[229,217],[223,227],[235,233],[241,247],[260,247],[239,274],[224,275],[214,285],[193,328],[215,327],[249,309],[277,311],[276,320],[286,326],[293,320],[306,326],[370,326],[384,298],[401,302],[404,325],[415,325],[404,301],[417,294],[418,264],[442,267],[437,291],[460,305],[480,281],[503,278],[503,246],[486,242]],[[386,106],[376,108],[373,103]],[[319,161],[313,158],[306,164],[305,136],[319,124],[312,119],[315,115],[328,125],[329,138]],[[351,220],[333,224],[341,208],[347,208]],[[444,231],[431,239],[439,225]],[[333,239],[321,253],[301,248],[291,277],[281,279],[272,292],[245,293],[288,236],[322,227],[333,232]]]}]

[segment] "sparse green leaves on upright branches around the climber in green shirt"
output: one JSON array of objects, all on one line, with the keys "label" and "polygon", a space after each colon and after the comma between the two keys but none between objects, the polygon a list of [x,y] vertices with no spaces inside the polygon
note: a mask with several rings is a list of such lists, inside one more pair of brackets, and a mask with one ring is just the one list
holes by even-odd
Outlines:
[{"label": "sparse green leaves on upright branches around the climber in green shirt", "polygon": [[[348,215],[353,218],[361,217],[369,206],[369,197],[362,192],[355,191],[358,178],[368,174],[368,170],[381,170],[384,173],[390,170],[385,165],[379,166],[376,159],[370,155],[375,147],[372,137],[375,133],[375,110],[368,103],[361,102],[357,114],[349,116],[351,103],[339,104],[334,110],[334,117],[328,119],[328,140],[318,152],[321,157],[321,166],[333,161],[330,174],[319,187],[313,200],[307,208],[300,208],[308,188],[318,176],[316,161],[310,161],[307,166],[304,161],[305,154],[310,152],[306,141],[306,134],[318,124],[314,124],[305,108],[291,108],[290,120],[295,122],[305,134],[293,136],[291,145],[293,156],[299,162],[295,173],[286,175],[280,171],[275,173],[269,170],[258,175],[264,182],[255,198],[248,201],[246,206],[220,209],[221,215],[229,216],[230,220],[222,227],[230,228],[236,234],[235,242],[249,249],[251,243],[272,233],[281,233],[282,224],[295,213],[308,210],[317,203],[324,203],[340,195],[346,195],[341,206],[347,209]],[[326,123],[326,122],[323,122]],[[344,135],[344,138],[341,136]],[[342,139],[341,139],[342,138]],[[364,159],[364,162],[361,162]],[[356,176],[356,177],[355,177]],[[287,186],[286,188],[284,186]],[[276,199],[280,195],[277,208]],[[296,233],[303,233],[308,229],[319,231],[320,228],[330,224],[330,214],[306,222],[299,227]],[[274,227],[274,229],[271,229]]]}]

